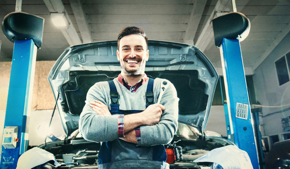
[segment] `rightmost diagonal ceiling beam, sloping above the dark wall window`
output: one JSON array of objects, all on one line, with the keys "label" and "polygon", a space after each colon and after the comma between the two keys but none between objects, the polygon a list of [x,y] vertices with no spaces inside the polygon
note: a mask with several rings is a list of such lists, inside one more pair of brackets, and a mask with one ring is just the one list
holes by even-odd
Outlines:
[{"label": "rightmost diagonal ceiling beam, sloping above the dark wall window", "polygon": [[255,70],[265,59],[269,56],[269,54],[278,46],[278,44],[284,39],[284,37],[290,32],[290,23],[282,30],[281,33],[275,37],[275,40],[270,44],[265,52],[261,55],[261,57],[257,58],[253,66],[253,70]]}]

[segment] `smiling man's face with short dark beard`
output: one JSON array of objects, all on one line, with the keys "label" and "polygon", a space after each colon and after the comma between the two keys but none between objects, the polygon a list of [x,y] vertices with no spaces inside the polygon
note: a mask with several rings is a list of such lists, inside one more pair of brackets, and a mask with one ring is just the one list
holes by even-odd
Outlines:
[{"label": "smiling man's face with short dark beard", "polygon": [[143,36],[131,34],[121,38],[117,58],[121,64],[122,74],[128,76],[144,74],[148,57],[149,50]]}]

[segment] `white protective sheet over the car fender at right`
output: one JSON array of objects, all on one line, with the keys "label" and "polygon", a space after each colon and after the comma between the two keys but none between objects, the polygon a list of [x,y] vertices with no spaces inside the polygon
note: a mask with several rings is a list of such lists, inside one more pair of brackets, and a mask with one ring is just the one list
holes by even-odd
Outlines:
[{"label": "white protective sheet over the car fender at right", "polygon": [[234,145],[215,148],[194,162],[217,163],[224,169],[253,169],[248,153]]}]

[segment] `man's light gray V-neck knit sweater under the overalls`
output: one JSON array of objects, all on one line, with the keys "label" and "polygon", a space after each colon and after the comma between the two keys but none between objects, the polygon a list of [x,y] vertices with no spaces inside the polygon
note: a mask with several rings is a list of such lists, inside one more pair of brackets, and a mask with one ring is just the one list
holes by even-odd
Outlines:
[{"label": "man's light gray V-neck knit sweater under the overalls", "polygon": [[[154,103],[157,103],[160,93],[160,84],[163,79],[156,78],[153,83]],[[169,81],[168,81],[169,82]],[[114,79],[115,86],[120,95],[118,99],[120,110],[145,110],[145,92],[147,84],[141,85],[135,93],[131,93],[117,78]],[[98,115],[89,106],[90,102],[99,100],[110,109],[110,88],[108,82],[98,82],[92,86],[86,97],[85,106],[79,119],[79,131],[86,140],[101,142],[118,139],[118,115]],[[156,125],[140,126],[141,141],[138,146],[166,145],[177,130],[178,101],[176,89],[172,83],[164,92],[160,104],[165,110]],[[119,139],[118,139],[119,140]],[[119,141],[120,142],[120,141]]]}]

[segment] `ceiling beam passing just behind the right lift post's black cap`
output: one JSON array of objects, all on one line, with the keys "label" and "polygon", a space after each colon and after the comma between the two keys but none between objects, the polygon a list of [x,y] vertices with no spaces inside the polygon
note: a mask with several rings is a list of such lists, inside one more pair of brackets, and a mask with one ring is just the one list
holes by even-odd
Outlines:
[{"label": "ceiling beam passing just behind the right lift post's black cap", "polygon": [[211,12],[210,17],[208,18],[208,21],[205,24],[205,27],[202,29],[201,34],[199,35],[195,46],[200,48],[202,52],[205,51],[205,49],[208,47],[209,42],[214,38],[214,31],[212,28],[212,22],[211,20],[216,16],[217,12],[229,12],[231,9],[228,8],[228,3],[231,3],[230,0],[218,0],[216,3],[214,9]]}]

